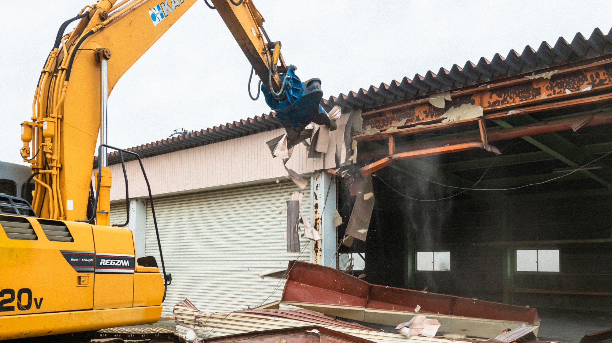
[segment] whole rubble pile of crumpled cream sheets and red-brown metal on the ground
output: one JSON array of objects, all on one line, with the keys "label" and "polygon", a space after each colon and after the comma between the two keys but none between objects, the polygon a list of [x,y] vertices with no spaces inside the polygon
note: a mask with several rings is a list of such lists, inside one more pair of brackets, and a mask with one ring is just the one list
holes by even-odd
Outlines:
[{"label": "whole rubble pile of crumpled cream sheets and red-brown metal on the ground", "polygon": [[252,309],[207,313],[177,303],[176,332],[189,342],[537,341],[533,308],[373,285],[307,262],[292,261],[283,274],[281,300]]}]

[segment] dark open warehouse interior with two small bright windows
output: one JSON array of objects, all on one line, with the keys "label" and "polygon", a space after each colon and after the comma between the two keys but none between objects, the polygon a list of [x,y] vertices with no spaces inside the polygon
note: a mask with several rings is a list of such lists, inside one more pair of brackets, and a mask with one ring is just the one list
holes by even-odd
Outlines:
[{"label": "dark open warehouse interior with two small bright windows", "polygon": [[[542,111],[489,126],[580,118],[608,106]],[[367,241],[340,248],[365,254],[364,270],[349,273],[365,274],[374,284],[538,309],[609,311],[611,128],[501,140],[494,143],[500,155],[472,149],[376,171]],[[447,129],[406,139],[444,141],[460,134],[467,132]],[[342,179],[343,217],[354,198]]]}]

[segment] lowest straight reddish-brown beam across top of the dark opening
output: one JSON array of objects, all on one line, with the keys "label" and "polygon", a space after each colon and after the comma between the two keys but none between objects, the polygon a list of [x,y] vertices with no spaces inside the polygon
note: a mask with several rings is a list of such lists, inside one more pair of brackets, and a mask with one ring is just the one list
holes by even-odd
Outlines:
[{"label": "lowest straight reddish-brown beam across top of the dark opening", "polygon": [[[572,124],[576,123],[577,118],[565,118],[558,120],[548,120],[541,121],[535,124],[529,124],[525,126],[512,127],[509,129],[488,129],[487,138],[488,141],[499,141],[499,140],[509,140],[512,138],[519,138],[524,136],[531,135],[541,135],[547,134],[548,132],[559,132],[564,130],[572,129]],[[596,113],[592,115],[591,121],[584,124],[583,127],[588,126],[598,126],[603,124],[612,123],[612,111],[605,111],[602,113]],[[429,141],[427,143],[412,143],[412,144],[404,144],[399,145],[397,142],[395,143],[395,154],[398,153],[406,153],[411,151],[419,151],[426,149],[436,149],[444,146],[453,146],[453,145],[461,145],[466,143],[481,143],[480,142],[480,134],[472,134],[466,135],[466,137],[462,138],[453,138],[449,140],[441,140],[441,141]],[[382,159],[387,156],[387,149],[376,149],[373,151],[367,151],[365,153],[357,155],[357,158],[360,162],[369,162],[371,160]],[[430,156],[428,154],[427,156]],[[423,157],[423,156],[413,156]]]}]

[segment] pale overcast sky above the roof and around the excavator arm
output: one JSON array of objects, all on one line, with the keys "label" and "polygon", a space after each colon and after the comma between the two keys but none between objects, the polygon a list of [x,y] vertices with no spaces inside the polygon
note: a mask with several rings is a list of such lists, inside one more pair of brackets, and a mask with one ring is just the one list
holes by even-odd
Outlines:
[{"label": "pale overcast sky above the roof and around the excavator arm", "polygon": [[[19,123],[31,116],[40,68],[61,23],[92,0],[12,1],[0,20],[0,160],[21,162]],[[4,1],[3,1],[4,2]],[[610,0],[256,0],[272,40],[302,80],[318,77],[326,98],[480,56],[537,50],[612,26]],[[119,80],[109,99],[109,143],[128,148],[261,113],[249,99],[250,64],[202,0]],[[264,147],[263,147],[264,148]]]}]

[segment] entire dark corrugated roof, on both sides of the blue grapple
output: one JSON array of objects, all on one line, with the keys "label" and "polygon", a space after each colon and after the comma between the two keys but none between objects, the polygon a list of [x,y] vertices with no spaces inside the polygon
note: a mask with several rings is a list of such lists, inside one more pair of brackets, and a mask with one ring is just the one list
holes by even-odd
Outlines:
[{"label": "entire dark corrugated roof, on both sides of the blue grapple", "polygon": [[[367,89],[360,88],[356,92],[350,91],[347,95],[330,96],[327,100],[323,99],[322,105],[328,111],[335,105],[339,105],[343,111],[365,110],[392,102],[477,85],[500,78],[528,74],[537,70],[609,54],[612,54],[612,29],[608,34],[603,34],[599,28],[596,28],[589,39],[584,38],[578,32],[571,43],[568,43],[563,37],[559,37],[554,46],[542,42],[537,50],[527,45],[522,53],[519,54],[516,50],[510,50],[505,58],[496,53],[490,61],[481,57],[476,63],[467,61],[463,67],[453,64],[450,70],[442,67],[438,70],[438,73],[428,70],[425,76],[416,74],[412,79],[404,77],[401,81],[392,80],[388,85],[381,83],[378,87],[371,85]],[[274,113],[271,112],[267,115],[255,116],[255,118],[242,119],[234,121],[234,123],[134,146],[129,150],[135,151],[143,158],[151,157],[280,127],[282,126],[278,123]],[[132,156],[126,155],[124,157],[125,160],[134,159]],[[118,163],[119,154],[116,152],[110,153],[108,164]],[[97,166],[96,162],[94,162],[95,166]]]}]

